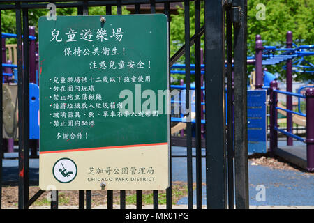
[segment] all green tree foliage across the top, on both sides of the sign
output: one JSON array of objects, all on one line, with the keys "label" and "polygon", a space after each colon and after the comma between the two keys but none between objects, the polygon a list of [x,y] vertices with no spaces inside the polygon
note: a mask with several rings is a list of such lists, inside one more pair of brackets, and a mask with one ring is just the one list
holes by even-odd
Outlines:
[{"label": "all green tree foliage across the top, on both sides of the sign", "polygon": [[[264,4],[265,18],[257,20],[257,14],[260,8],[257,4]],[[263,45],[280,45],[285,47],[285,39],[287,31],[292,31],[294,43],[297,45],[311,45],[314,43],[314,1],[313,0],[248,0],[248,56],[255,54],[255,36],[262,36]],[[47,15],[47,9],[32,9],[29,10],[29,24],[36,26],[38,18]],[[128,10],[123,8],[123,14],[128,14]],[[190,36],[195,33],[195,10],[194,2],[190,3]],[[89,7],[89,15],[104,15],[105,7]],[[117,14],[117,8],[112,7],[112,14]],[[77,8],[57,8],[57,15],[77,15]],[[201,2],[201,26],[204,25],[204,1]],[[16,33],[15,29],[15,11],[3,10],[1,13],[2,31],[7,33]],[[170,22],[170,56],[184,45],[184,8],[178,7],[178,14],[171,15]],[[37,35],[37,34],[36,34]],[[7,43],[15,43],[14,38],[7,40]],[[204,48],[204,36],[201,40],[201,46]],[[191,63],[195,62],[194,47],[190,49]],[[313,56],[306,58],[314,63]],[[184,56],[177,61],[184,63]],[[268,70],[273,73],[278,73],[282,78],[285,78],[285,70],[281,63],[277,66],[267,66]],[[248,66],[248,72],[254,69],[254,66]],[[174,79],[181,79],[184,75],[174,75]],[[193,76],[192,76],[193,77]],[[313,74],[297,74],[295,79],[313,79]]]}]

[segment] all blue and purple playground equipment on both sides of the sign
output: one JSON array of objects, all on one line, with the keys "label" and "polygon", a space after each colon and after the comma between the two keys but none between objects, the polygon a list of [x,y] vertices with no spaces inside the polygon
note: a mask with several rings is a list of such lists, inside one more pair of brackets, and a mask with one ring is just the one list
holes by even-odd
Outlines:
[{"label": "all blue and purple playground equipment on both sides of the sign", "polygon": [[[39,128],[38,128],[38,43],[36,44],[36,37],[34,36],[35,34],[35,29],[34,27],[29,28],[29,40],[30,41],[30,139],[32,141],[31,143],[31,155],[33,157],[36,157],[37,155],[37,139],[39,139]],[[292,33],[288,32],[287,33],[287,38],[292,38]],[[17,83],[17,65],[12,64],[12,61],[16,61],[16,45],[7,45],[6,46],[6,38],[16,38],[15,34],[10,34],[10,33],[2,33],[2,54],[3,54],[3,83],[7,83],[8,86],[12,89],[11,91],[15,92],[13,95],[17,95],[17,85],[14,83]],[[276,79],[275,75],[271,74],[270,72],[267,71],[267,69],[263,69],[262,66],[269,66],[269,65],[275,65],[278,63],[281,63],[283,61],[287,61],[287,65],[283,66],[285,70],[287,70],[287,89],[292,89],[292,81],[289,80],[292,78],[292,69],[294,72],[306,72],[306,73],[313,73],[314,66],[310,62],[306,61],[304,59],[305,56],[311,56],[314,54],[312,51],[308,51],[308,49],[314,49],[314,45],[302,45],[297,47],[295,45],[295,48],[291,48],[291,41],[287,42],[289,45],[287,45],[287,48],[277,48],[277,47],[271,47],[271,46],[262,46],[262,40],[259,35],[256,36],[256,54],[255,56],[248,56],[247,62],[248,65],[255,65],[255,72],[251,74],[250,77],[250,85],[248,86],[249,89],[253,90],[261,90],[261,89],[266,89],[271,91],[271,83],[274,84],[274,79]],[[276,54],[276,52],[281,52],[280,54]],[[282,53],[283,52],[283,53]],[[8,58],[8,59],[7,59]],[[297,61],[292,63],[292,59],[297,58]],[[202,109],[200,110],[201,112],[201,130],[202,130],[202,139],[204,139],[204,64],[203,63],[203,52],[201,49],[201,106]],[[306,63],[306,65],[304,65]],[[181,64],[174,64],[171,68],[171,73],[172,74],[185,74],[184,69],[185,66]],[[195,65],[191,64],[190,65],[191,69],[195,69]],[[313,69],[313,70],[310,70]],[[195,70],[191,70],[190,74],[195,75]],[[281,94],[286,94],[287,95],[287,107],[285,107],[281,102],[278,102],[276,109],[279,114],[282,114],[283,116],[287,116],[287,131],[281,130],[281,128],[276,128],[278,132],[281,132],[282,134],[287,135],[287,145],[292,146],[293,141],[292,138],[297,139],[299,141],[311,141],[308,139],[302,139],[301,137],[295,136],[292,133],[292,123],[295,123],[300,126],[306,127],[306,114],[301,112],[300,109],[300,98],[306,99],[306,96],[301,95],[300,91],[301,89],[311,89],[313,86],[302,86],[299,89],[298,94],[294,93],[285,93],[283,91],[278,91],[274,90],[276,93],[281,93]],[[180,95],[177,95],[177,98],[174,98],[172,100],[172,105],[175,103],[179,104],[180,106],[184,104],[186,101],[186,85],[184,84],[184,81],[181,79],[180,80],[180,85],[171,85],[171,89],[178,89],[181,91]],[[192,91],[192,98],[191,98],[191,123],[195,125],[195,84],[191,84],[190,87]],[[250,91],[248,89],[248,98],[253,91]],[[273,91],[271,91],[273,92]],[[289,91],[287,91],[289,92]],[[178,97],[179,96],[179,97]],[[298,98],[298,112],[292,111],[292,100],[291,97],[295,96]],[[262,97],[264,97],[262,95]],[[10,97],[6,96],[6,98],[10,98],[12,100],[12,95]],[[256,97],[255,97],[256,99]],[[260,102],[260,106],[263,105],[263,100]],[[266,100],[266,98],[265,98]],[[15,100],[16,101],[16,100]],[[248,100],[248,103],[253,102],[251,99]],[[266,101],[265,101],[266,102]],[[255,102],[256,105],[256,102]],[[251,108],[251,106],[248,105],[248,108]],[[16,111],[16,109],[15,109]],[[262,119],[262,123],[264,121],[267,121],[267,116],[263,116],[263,111],[260,111],[259,113],[259,118]],[[256,120],[251,120],[253,116],[253,119],[256,119],[256,112],[257,110],[250,110],[248,109],[248,152],[249,153],[266,153],[267,152],[267,123],[265,126],[262,126],[261,129],[261,123],[257,124],[257,128],[255,128],[256,125],[254,122]],[[252,113],[252,114],[251,114]],[[16,114],[14,114],[16,117]],[[171,128],[171,133],[174,135],[174,140],[172,142],[173,145],[177,146],[184,146],[182,144],[181,138],[184,137],[184,130],[186,129],[186,116],[184,116],[182,113],[181,115],[178,116],[172,116],[171,121],[172,123],[177,123],[175,125],[172,125]],[[11,124],[11,128],[13,128],[14,123]],[[15,126],[15,132],[17,132],[17,125]],[[256,130],[260,129],[260,132],[257,132]],[[272,132],[272,131],[270,131]],[[178,134],[179,133],[179,137]],[[175,136],[177,135],[177,136]],[[262,135],[262,137],[261,137]],[[193,132],[193,136],[195,136],[195,132]],[[15,133],[15,138],[17,137],[17,133]],[[6,135],[7,139],[4,139],[4,145],[7,146],[8,152],[13,152],[13,138],[9,138],[8,135]],[[272,139],[271,137],[269,137]],[[204,144],[204,143],[203,143]],[[274,146],[273,143],[271,145]],[[270,148],[270,151],[274,150],[273,147]],[[310,153],[311,154],[311,153]],[[311,159],[310,159],[311,162]],[[304,167],[304,164],[302,165]],[[309,167],[309,166],[308,166]],[[311,169],[311,168],[310,168]]]}]

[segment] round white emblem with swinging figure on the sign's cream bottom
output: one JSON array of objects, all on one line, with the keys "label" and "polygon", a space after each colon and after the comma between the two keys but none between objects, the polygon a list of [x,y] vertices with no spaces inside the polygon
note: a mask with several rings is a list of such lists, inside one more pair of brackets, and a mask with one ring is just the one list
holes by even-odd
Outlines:
[{"label": "round white emblem with swinging figure on the sign's cream bottom", "polygon": [[70,183],[77,175],[77,166],[69,158],[61,158],[52,167],[54,178],[60,183]]}]

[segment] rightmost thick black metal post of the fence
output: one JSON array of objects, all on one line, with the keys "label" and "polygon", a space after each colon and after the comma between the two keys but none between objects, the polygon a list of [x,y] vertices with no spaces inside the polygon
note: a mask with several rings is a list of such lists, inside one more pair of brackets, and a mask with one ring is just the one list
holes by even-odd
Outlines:
[{"label": "rightmost thick black metal post of the fence", "polygon": [[248,208],[248,122],[247,122],[247,3],[233,1],[234,13],[234,172],[236,208]]}]

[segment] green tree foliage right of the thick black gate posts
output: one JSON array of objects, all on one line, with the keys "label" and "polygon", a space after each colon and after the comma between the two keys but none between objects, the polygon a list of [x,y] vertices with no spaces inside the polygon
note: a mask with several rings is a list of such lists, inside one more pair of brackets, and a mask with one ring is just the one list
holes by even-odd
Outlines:
[{"label": "green tree foliage right of the thick black gate posts", "polygon": [[[263,3],[266,9],[265,20],[256,20],[257,3]],[[286,46],[287,31],[292,31],[293,42],[297,45],[314,43],[314,1],[313,0],[248,0],[248,56],[255,54],[255,36],[260,34],[263,45]],[[306,60],[314,61],[313,56]],[[280,63],[277,66],[267,66],[270,72],[278,73],[280,79],[285,79],[285,70]],[[248,67],[249,71],[253,66]],[[313,74],[294,73],[295,80],[312,80]]]}]

